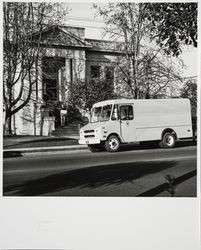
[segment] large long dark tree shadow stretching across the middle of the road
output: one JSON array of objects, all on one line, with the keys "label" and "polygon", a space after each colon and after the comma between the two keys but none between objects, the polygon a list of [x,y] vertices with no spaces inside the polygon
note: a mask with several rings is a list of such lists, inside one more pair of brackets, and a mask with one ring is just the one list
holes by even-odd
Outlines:
[{"label": "large long dark tree shadow stretching across the middle of the road", "polygon": [[175,165],[175,161],[153,161],[87,167],[52,174],[22,184],[4,186],[3,192],[4,195],[11,196],[35,196],[71,188],[93,189],[107,185],[121,185]]}]

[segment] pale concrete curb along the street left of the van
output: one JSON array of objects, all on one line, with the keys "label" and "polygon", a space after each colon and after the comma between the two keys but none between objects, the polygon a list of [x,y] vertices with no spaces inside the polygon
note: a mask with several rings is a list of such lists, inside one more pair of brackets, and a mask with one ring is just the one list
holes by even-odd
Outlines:
[{"label": "pale concrete curb along the street left of the van", "polygon": [[16,149],[4,149],[3,157],[18,157],[24,153],[37,153],[37,152],[52,152],[52,151],[70,151],[70,150],[87,150],[86,145],[72,145],[72,146],[57,146],[57,147],[38,147],[38,148],[16,148]]}]

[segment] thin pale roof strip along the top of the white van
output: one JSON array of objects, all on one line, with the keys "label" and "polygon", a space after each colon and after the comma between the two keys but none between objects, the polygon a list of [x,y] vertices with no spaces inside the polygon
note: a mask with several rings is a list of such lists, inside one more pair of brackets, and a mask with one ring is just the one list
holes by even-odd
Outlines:
[{"label": "thin pale roof strip along the top of the white van", "polygon": [[114,100],[106,100],[97,102],[93,105],[93,107],[104,106],[108,104],[134,104],[139,102],[169,102],[170,104],[173,102],[189,102],[187,98],[168,98],[168,99],[114,99]]}]

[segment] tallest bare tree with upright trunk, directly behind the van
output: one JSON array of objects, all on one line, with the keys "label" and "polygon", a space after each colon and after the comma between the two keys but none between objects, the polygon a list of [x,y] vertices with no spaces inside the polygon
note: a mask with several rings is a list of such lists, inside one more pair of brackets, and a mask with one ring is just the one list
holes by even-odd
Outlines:
[{"label": "tallest bare tree with upright trunk, directly behind the van", "polygon": [[[109,3],[105,7],[98,7],[99,15],[103,16],[106,28],[114,40],[120,39],[122,43],[117,45],[117,49],[124,53],[125,65],[120,65],[119,70],[124,74],[133,98],[139,98],[139,57],[140,44],[146,25],[143,22],[143,5],[135,3]],[[122,60],[123,58],[121,58]]]}]

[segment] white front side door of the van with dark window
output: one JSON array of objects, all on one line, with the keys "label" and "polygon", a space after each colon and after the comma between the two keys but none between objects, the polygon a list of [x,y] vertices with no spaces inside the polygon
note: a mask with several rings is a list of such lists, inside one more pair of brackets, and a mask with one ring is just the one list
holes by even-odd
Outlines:
[{"label": "white front side door of the van with dark window", "polygon": [[134,120],[134,105],[123,104],[119,106],[120,132],[124,142],[136,141],[136,128]]}]

